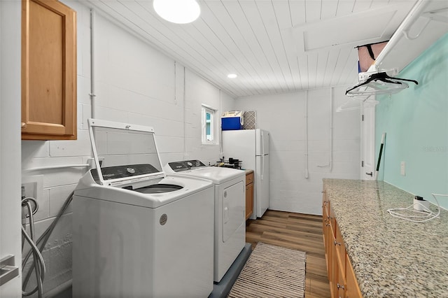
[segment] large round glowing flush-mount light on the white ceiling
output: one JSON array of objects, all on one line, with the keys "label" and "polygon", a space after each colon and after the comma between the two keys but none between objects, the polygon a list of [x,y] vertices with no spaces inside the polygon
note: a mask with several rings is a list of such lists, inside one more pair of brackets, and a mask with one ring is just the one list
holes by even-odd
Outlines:
[{"label": "large round glowing flush-mount light on the white ceiling", "polygon": [[201,13],[195,0],[154,0],[153,7],[160,17],[176,24],[193,22]]}]

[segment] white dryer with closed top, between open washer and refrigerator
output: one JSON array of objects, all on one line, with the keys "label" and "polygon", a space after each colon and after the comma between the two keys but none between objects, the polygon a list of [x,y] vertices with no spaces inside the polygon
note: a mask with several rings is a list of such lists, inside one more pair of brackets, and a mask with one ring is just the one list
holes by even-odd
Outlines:
[{"label": "white dryer with closed top, between open washer and refrigerator", "polygon": [[214,281],[218,283],[246,243],[246,173],[205,166],[199,160],[169,162],[167,173],[206,178],[215,186]]}]

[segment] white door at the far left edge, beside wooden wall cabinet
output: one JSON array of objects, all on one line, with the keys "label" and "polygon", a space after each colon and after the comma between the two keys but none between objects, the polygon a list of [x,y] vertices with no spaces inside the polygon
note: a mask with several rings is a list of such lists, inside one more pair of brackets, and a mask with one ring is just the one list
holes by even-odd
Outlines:
[{"label": "white door at the far left edge, beside wooden wall cabinet", "polygon": [[[18,276],[0,297],[22,297],[20,236],[20,0],[0,1],[0,260],[14,255]],[[11,271],[8,271],[11,272]],[[14,274],[10,275],[13,276]]]}]

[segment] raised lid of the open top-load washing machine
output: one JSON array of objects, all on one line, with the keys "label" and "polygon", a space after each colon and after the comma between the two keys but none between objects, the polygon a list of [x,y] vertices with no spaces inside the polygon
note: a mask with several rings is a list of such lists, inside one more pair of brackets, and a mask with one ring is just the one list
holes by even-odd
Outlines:
[{"label": "raised lid of the open top-load washing machine", "polygon": [[97,119],[88,123],[99,184],[116,186],[165,176],[153,127]]}]

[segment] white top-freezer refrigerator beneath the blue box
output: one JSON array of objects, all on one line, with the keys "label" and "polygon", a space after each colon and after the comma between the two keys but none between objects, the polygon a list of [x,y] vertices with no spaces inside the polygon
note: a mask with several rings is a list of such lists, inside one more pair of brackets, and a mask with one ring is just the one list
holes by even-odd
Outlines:
[{"label": "white top-freezer refrigerator beneath the blue box", "polygon": [[253,169],[251,219],[260,218],[269,208],[269,132],[262,129],[223,131],[223,156],[241,160],[243,169]]}]

